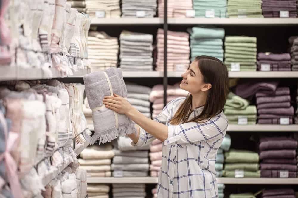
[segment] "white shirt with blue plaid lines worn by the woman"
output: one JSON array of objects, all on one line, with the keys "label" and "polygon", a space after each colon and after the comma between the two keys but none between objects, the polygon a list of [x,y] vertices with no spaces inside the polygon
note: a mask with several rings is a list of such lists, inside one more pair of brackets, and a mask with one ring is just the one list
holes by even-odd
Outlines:
[{"label": "white shirt with blue plaid lines worn by the woman", "polygon": [[[163,142],[162,167],[158,179],[159,198],[216,198],[215,160],[218,148],[226,135],[228,121],[223,112],[204,123],[189,122],[171,125],[169,121],[185,97],[167,104],[154,120],[168,126],[168,138]],[[203,107],[195,109],[190,119]],[[141,129],[137,146],[155,138]]]}]

